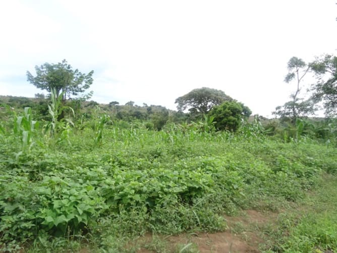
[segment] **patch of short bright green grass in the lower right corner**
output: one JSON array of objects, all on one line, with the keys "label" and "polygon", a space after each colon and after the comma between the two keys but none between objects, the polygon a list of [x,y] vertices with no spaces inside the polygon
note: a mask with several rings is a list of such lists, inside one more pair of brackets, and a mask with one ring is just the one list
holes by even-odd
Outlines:
[{"label": "patch of short bright green grass in the lower right corner", "polygon": [[267,252],[335,252],[337,250],[337,178],[324,175],[298,211],[280,215],[268,234]]}]

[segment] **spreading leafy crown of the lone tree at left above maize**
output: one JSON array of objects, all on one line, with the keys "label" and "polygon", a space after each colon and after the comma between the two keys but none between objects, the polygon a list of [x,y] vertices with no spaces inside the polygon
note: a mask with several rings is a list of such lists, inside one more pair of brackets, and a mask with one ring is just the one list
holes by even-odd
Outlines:
[{"label": "spreading leafy crown of the lone tree at left above maize", "polygon": [[[35,66],[35,71],[35,77],[27,71],[28,82],[48,92],[55,89],[57,97],[63,93],[63,101],[72,95],[78,96],[83,93],[93,82],[93,70],[88,74],[82,74],[78,69],[73,70],[66,60],[58,64],[45,63],[41,66]],[[91,95],[92,92],[89,92],[83,98],[88,99]]]}]

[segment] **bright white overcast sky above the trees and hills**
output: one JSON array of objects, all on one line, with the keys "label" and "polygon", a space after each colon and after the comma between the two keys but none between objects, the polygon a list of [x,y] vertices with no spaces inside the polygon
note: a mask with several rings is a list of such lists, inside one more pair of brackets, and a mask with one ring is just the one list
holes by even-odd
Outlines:
[{"label": "bright white overcast sky above the trees and hills", "polygon": [[[94,70],[92,100],[161,105],[220,89],[272,117],[290,100],[293,56],[336,54],[335,0],[11,0],[0,4],[0,95],[46,93],[34,67]],[[310,76],[303,85],[314,81]]]}]

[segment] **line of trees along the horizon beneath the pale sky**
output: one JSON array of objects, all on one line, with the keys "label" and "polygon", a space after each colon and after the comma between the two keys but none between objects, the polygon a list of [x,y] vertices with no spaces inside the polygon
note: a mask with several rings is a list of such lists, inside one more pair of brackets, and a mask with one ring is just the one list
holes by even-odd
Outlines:
[{"label": "line of trees along the horizon beneath the pale sky", "polygon": [[[56,96],[62,95],[64,105],[72,107],[78,113],[85,113],[90,108],[103,107],[104,110],[117,120],[148,121],[147,127],[160,130],[167,122],[197,121],[204,116],[212,119],[216,130],[236,131],[242,122],[251,115],[251,110],[243,103],[224,93],[222,90],[208,87],[196,88],[176,99],[178,112],[167,110],[161,106],[137,106],[129,101],[124,106],[113,101],[108,105],[99,105],[94,101],[86,101],[92,91],[87,92],[93,83],[93,71],[88,74],[63,60],[58,64],[45,63],[35,66],[36,75],[27,71],[27,80],[37,88],[51,92],[55,90]],[[316,78],[311,85],[310,97],[303,96],[304,79],[308,74]],[[295,82],[295,91],[291,94],[289,102],[276,107],[273,114],[281,119],[288,119],[294,123],[297,119],[313,115],[322,104],[327,117],[337,115],[337,57],[324,55],[313,62],[306,63],[302,59],[292,57],[288,62],[288,74],[285,82]],[[35,94],[36,101],[32,103],[29,98],[9,97],[7,103],[14,107],[31,107],[37,114],[48,117],[49,94]]]}]

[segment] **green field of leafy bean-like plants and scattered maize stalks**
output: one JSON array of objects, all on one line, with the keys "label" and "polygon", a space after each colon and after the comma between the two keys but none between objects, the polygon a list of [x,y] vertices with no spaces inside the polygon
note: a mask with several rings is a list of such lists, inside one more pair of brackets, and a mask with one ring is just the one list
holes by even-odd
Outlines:
[{"label": "green field of leafy bean-like plants and scattered maize stalks", "polygon": [[233,134],[31,117],[0,125],[1,250],[121,252],[124,238],[146,232],[223,231],[224,214],[277,209],[337,172],[335,147],[271,139],[254,125]]}]

